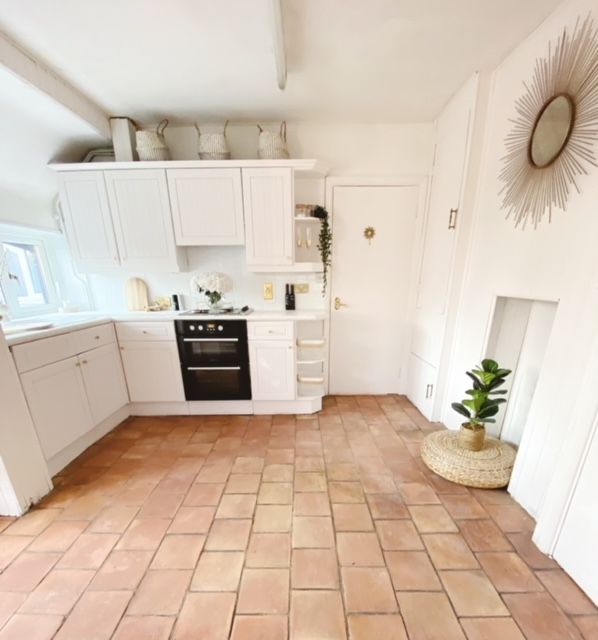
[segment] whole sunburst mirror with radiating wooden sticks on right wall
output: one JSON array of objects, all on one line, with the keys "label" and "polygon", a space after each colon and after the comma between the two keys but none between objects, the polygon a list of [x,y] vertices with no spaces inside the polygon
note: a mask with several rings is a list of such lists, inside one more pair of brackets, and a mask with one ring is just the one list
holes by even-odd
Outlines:
[{"label": "whole sunburst mirror with radiating wooden sticks on right wall", "polygon": [[598,37],[591,15],[549,43],[524,87],[505,143],[500,193],[507,218],[535,228],[552,219],[553,209],[566,209],[579,176],[596,166]]}]

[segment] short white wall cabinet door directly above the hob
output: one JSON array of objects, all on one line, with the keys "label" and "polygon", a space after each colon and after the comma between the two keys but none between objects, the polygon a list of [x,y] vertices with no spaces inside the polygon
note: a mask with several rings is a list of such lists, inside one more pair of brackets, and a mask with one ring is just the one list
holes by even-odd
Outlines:
[{"label": "short white wall cabinet door directly above the hob", "polygon": [[169,169],[177,245],[245,244],[241,169]]}]

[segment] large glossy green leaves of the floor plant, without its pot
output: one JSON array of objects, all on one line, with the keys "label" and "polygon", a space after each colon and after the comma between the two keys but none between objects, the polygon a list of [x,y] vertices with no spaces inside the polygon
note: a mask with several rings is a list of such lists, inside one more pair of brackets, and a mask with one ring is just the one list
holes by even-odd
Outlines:
[{"label": "large glossy green leaves of the floor plant, without its pot", "polygon": [[[470,429],[482,429],[486,423],[496,422],[494,416],[498,413],[500,405],[507,400],[506,389],[499,389],[510,369],[501,369],[498,363],[490,358],[482,360],[482,364],[476,369],[465,372],[473,382],[473,388],[465,393],[469,396],[462,402],[453,402],[451,407],[468,420]],[[465,425],[464,425],[465,426]]]}]

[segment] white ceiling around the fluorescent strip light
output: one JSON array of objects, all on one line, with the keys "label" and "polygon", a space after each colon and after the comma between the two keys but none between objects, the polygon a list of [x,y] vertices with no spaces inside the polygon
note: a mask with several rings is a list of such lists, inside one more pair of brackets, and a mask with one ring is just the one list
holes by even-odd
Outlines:
[{"label": "white ceiling around the fluorescent strip light", "polygon": [[432,120],[559,0],[2,0],[0,29],[112,115],[175,120]]}]

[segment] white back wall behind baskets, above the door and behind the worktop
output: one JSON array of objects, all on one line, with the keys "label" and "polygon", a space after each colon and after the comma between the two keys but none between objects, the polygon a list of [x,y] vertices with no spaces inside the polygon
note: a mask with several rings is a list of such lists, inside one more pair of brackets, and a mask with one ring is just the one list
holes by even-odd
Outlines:
[{"label": "white back wall behind baskets, above the door and behind the worktop", "polygon": [[[276,128],[278,124],[266,125]],[[214,127],[206,128],[213,130]],[[231,125],[227,140],[232,157],[257,157],[257,134],[254,124]],[[197,133],[191,126],[168,127],[167,143],[172,158],[197,158]],[[290,123],[288,145],[291,157],[317,158],[330,167],[335,176],[407,176],[430,172],[434,127],[429,124],[308,124]],[[297,202],[325,204],[324,180],[297,180]],[[228,299],[236,305],[248,304],[260,309],[284,308],[284,284],[307,282],[309,294],[296,296],[298,309],[322,308],[327,301],[321,296],[321,278],[314,274],[255,274],[245,267],[244,247],[193,247],[187,250],[189,272],[181,274],[131,273],[90,277],[97,309],[125,309],[124,283],[132,275],[143,278],[150,296],[187,293],[190,272],[223,271],[231,276],[234,289]],[[262,298],[262,285],[274,283],[274,300]],[[198,298],[196,300],[199,301]],[[189,301],[191,304],[192,301]]]}]

